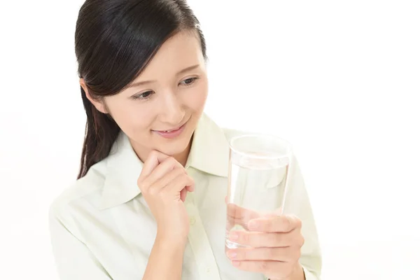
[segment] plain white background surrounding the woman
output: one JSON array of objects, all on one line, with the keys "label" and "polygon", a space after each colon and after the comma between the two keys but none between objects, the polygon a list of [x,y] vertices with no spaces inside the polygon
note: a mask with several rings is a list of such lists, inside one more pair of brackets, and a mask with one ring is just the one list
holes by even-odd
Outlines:
[{"label": "plain white background surrounding the woman", "polygon": [[[75,179],[83,1],[0,2],[0,267],[57,279],[48,207]],[[190,0],[209,48],[207,113],[293,143],[323,279],[420,279],[418,1]]]}]

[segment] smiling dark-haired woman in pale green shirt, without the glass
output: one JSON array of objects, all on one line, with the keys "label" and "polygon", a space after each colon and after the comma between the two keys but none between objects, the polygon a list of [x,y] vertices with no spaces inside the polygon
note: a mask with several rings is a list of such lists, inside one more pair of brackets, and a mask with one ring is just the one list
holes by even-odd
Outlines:
[{"label": "smiling dark-haired woman in pale green shirt, without the glass", "polygon": [[50,209],[61,279],[318,279],[297,165],[285,209],[295,216],[256,219],[229,237],[252,249],[225,252],[228,141],[240,132],[203,114],[206,44],[184,0],[87,0],[76,57],[80,174]]}]

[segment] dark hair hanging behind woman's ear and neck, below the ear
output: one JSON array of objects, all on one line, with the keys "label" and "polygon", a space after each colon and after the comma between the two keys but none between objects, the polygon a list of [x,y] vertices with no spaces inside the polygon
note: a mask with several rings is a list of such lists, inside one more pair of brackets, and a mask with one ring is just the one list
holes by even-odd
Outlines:
[{"label": "dark hair hanging behind woman's ear and neck, below the ear", "polygon": [[80,87],[80,92],[87,120],[77,179],[85,176],[92,165],[104,160],[109,155],[113,143],[120,132],[120,127],[118,127],[117,123],[109,115],[99,112],[87,99],[83,87]]}]

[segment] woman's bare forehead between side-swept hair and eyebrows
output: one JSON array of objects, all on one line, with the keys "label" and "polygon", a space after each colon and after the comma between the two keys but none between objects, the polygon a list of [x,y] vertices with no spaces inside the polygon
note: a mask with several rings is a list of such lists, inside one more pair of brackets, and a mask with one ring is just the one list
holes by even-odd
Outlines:
[{"label": "woman's bare forehead between side-swept hair and eyebrows", "polygon": [[200,39],[191,31],[180,32],[169,38],[136,80],[174,75],[189,66],[204,66]]}]

